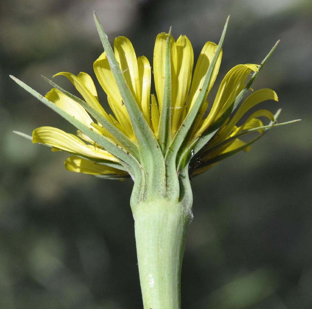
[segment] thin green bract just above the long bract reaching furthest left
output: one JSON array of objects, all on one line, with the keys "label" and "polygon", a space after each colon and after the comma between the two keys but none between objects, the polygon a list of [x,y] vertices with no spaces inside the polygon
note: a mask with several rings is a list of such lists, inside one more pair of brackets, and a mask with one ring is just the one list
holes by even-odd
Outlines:
[{"label": "thin green bract just above the long bract reaching furthest left", "polygon": [[57,90],[64,93],[67,97],[70,97],[72,100],[81,105],[87,112],[90,113],[107,131],[110,132],[111,135],[114,136],[118,145],[128,151],[130,154],[134,156],[135,159],[139,160],[139,152],[138,147],[134,144],[132,140],[129,139],[128,136],[124,135],[118,128],[116,128],[110,121],[108,121],[103,115],[101,115],[98,111],[96,111],[93,107],[87,104],[85,101],[81,100],[79,97],[69,93],[64,90],[56,83],[52,82],[50,79],[42,76],[48,83],[50,83]]}]

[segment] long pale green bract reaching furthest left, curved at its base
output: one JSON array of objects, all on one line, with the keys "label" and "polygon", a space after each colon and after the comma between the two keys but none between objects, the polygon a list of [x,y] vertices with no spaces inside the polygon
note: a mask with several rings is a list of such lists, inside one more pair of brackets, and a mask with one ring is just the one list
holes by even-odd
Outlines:
[{"label": "long pale green bract reaching furthest left, curved at its base", "polygon": [[39,101],[44,103],[46,106],[50,107],[53,111],[58,113],[60,116],[65,118],[69,121],[73,126],[75,126],[78,130],[85,133],[89,136],[92,140],[94,140],[98,145],[102,146],[104,149],[109,151],[115,157],[119,158],[122,162],[122,165],[127,169],[128,173],[131,177],[135,180],[134,181],[134,190],[136,194],[133,195],[133,199],[135,200],[142,200],[143,198],[143,190],[145,186],[145,177],[144,173],[141,169],[141,165],[139,162],[131,155],[127,154],[127,151],[121,149],[120,146],[117,146],[114,142],[107,139],[105,136],[96,133],[95,131],[91,130],[90,127],[84,125],[76,118],[72,117],[70,114],[62,110],[56,104],[49,101],[46,97],[42,96],[40,93],[20,81],[19,79],[15,78],[14,76],[10,75],[10,77],[22,88],[24,88],[27,92],[32,94],[36,97]]}]

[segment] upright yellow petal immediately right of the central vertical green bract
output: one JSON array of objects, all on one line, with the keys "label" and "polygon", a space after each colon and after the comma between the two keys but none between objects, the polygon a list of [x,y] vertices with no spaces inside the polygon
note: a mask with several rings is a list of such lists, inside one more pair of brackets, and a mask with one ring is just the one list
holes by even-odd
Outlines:
[{"label": "upright yellow petal immediately right of the central vertical green bract", "polygon": [[178,129],[180,115],[187,102],[188,92],[192,80],[194,54],[191,42],[186,36],[180,36],[176,42],[177,73],[176,82],[172,84],[172,138]]}]

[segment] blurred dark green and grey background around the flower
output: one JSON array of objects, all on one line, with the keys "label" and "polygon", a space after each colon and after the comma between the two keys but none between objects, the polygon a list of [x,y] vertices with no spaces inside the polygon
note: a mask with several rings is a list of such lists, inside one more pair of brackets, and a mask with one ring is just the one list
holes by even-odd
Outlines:
[{"label": "blurred dark green and grey background around the flower", "polygon": [[1,0],[0,308],[142,308],[132,182],[68,172],[66,153],[12,133],[75,132],[8,75],[41,94],[51,89],[41,74],[95,77],[102,46],[93,10],[111,42],[127,36],[151,63],[159,32],[187,35],[197,59],[230,14],[214,91],[229,69],[259,64],[281,40],[253,88],[277,92],[279,102],[261,108],[281,107],[279,122],[303,120],[193,179],[182,308],[312,308],[310,0]]}]

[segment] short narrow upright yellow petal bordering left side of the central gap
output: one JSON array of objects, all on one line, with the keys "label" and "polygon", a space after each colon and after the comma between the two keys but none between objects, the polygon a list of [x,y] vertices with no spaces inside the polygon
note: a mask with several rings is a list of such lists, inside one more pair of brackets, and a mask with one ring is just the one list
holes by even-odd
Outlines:
[{"label": "short narrow upright yellow petal bordering left side of the central gap", "polygon": [[140,82],[140,109],[144,114],[147,123],[150,126],[149,106],[151,91],[151,66],[149,60],[145,57],[138,58],[139,82]]}]

